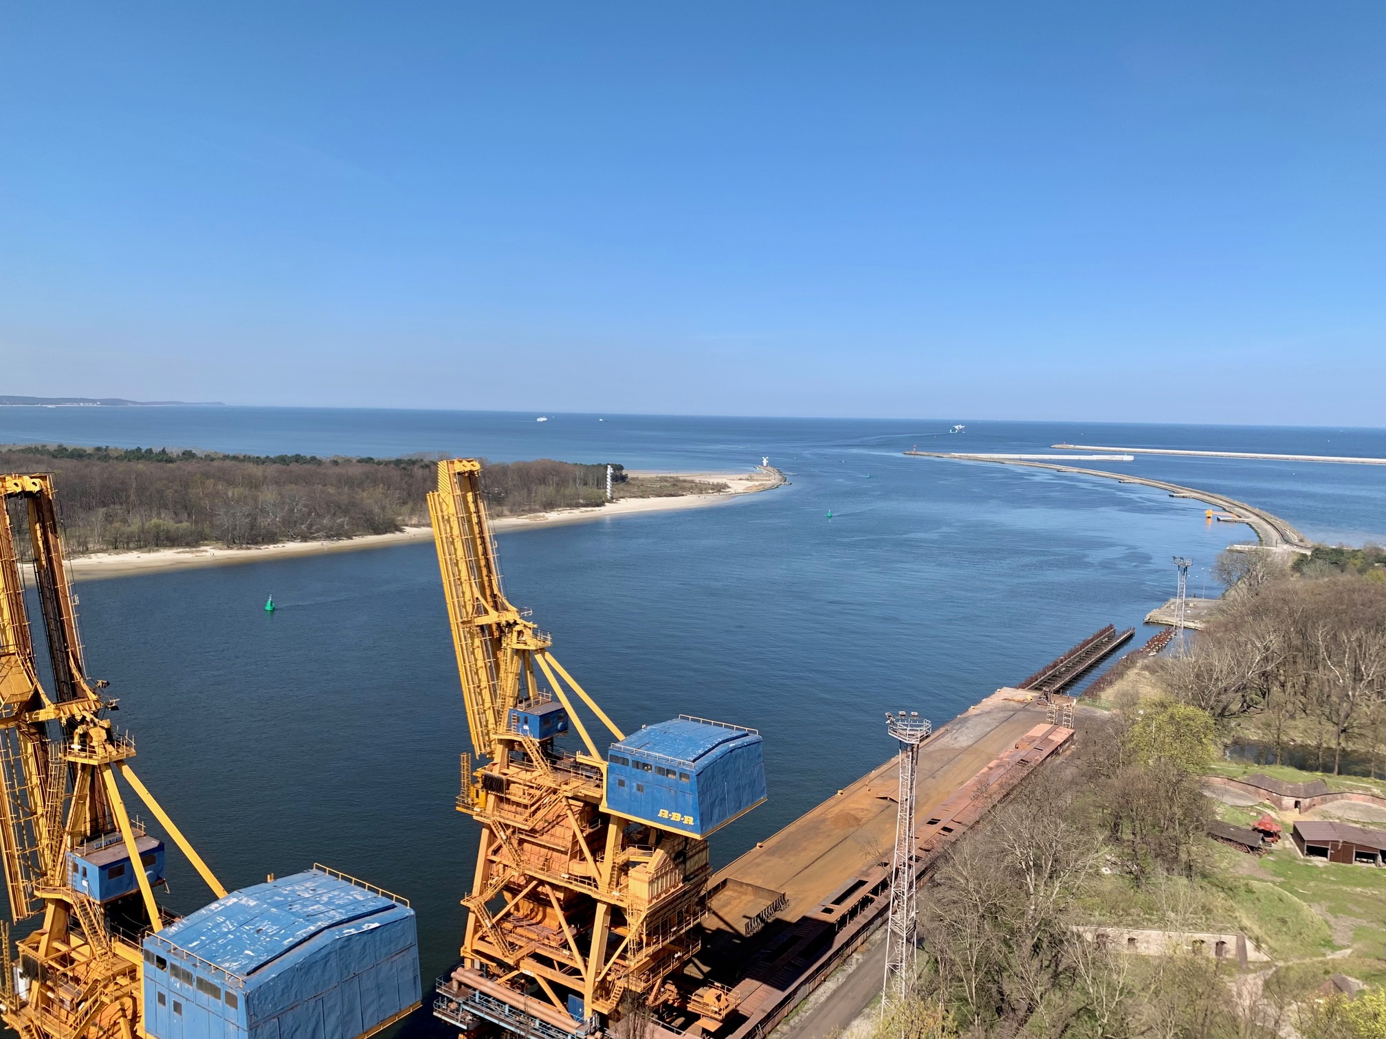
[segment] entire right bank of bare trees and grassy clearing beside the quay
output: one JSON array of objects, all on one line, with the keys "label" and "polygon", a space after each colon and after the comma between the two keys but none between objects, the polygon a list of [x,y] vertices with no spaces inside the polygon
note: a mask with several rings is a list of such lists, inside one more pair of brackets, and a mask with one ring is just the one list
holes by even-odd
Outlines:
[{"label": "entire right bank of bare trees and grassy clearing beside the quay", "polygon": [[[1071,754],[922,884],[908,995],[844,1039],[1386,1036],[1386,871],[1292,835],[1386,828],[1386,783],[1339,774],[1349,749],[1386,754],[1386,550],[1227,551],[1214,572],[1228,590],[1186,650],[1080,700]],[[1220,759],[1249,729],[1318,767]],[[1253,772],[1376,798],[1217,783]]]}]

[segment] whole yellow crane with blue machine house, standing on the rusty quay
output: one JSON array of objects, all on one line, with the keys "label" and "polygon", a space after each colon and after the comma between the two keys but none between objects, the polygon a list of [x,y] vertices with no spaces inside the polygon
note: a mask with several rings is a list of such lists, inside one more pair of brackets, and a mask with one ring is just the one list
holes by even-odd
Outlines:
[{"label": "whole yellow crane with blue machine house, standing on the rusty quay", "polygon": [[[506,598],[481,464],[439,463],[428,508],[475,755],[457,809],[481,824],[463,961],[434,1013],[546,1039],[622,1013],[718,1027],[732,993],[681,971],[700,945],[705,837],[765,799],[760,734],[686,715],[622,733]],[[559,744],[570,723],[575,751]]]}]

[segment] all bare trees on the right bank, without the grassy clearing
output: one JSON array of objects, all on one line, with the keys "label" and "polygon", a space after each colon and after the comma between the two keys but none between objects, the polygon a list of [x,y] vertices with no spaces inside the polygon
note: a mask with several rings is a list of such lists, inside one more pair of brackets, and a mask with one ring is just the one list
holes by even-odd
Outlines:
[{"label": "all bare trees on the right bank, without the grassy clearing", "polygon": [[[1110,927],[1200,931],[1242,881],[1206,837],[1200,774],[1256,726],[1277,745],[1386,743],[1386,554],[1318,550],[1290,565],[1228,553],[1229,586],[1185,652],[1148,666],[1155,695],[1117,690],[1080,715],[1076,749],[1046,765],[920,889],[922,966],[876,1027],[906,1039],[1386,1036],[1386,993],[1324,997],[1293,971],[1247,984],[1235,964],[1130,956]],[[1245,864],[1242,866],[1246,867]]]}]

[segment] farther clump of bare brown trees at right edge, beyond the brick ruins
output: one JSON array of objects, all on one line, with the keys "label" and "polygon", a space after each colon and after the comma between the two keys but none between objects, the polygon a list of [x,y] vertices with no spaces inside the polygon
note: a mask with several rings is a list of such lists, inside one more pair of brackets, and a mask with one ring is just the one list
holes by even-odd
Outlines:
[{"label": "farther clump of bare brown trees at right edge, beyond the brick ruins", "polygon": [[1386,749],[1386,569],[1371,549],[1315,557],[1290,568],[1265,551],[1227,553],[1217,616],[1156,677],[1277,756],[1314,748],[1315,769],[1336,774],[1346,751]]}]

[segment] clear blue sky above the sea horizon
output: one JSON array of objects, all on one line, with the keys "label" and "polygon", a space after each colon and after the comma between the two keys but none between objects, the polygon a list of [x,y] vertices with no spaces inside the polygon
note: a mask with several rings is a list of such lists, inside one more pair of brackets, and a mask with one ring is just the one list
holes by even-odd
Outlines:
[{"label": "clear blue sky above the sea horizon", "polygon": [[72,3],[0,392],[1386,424],[1386,4]]}]

